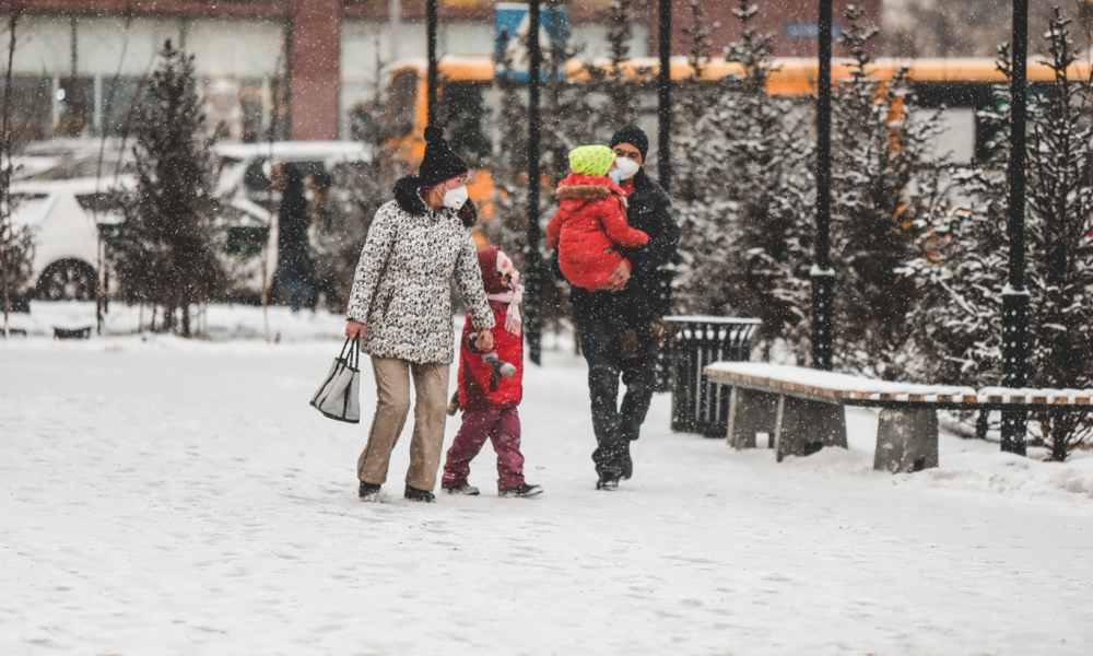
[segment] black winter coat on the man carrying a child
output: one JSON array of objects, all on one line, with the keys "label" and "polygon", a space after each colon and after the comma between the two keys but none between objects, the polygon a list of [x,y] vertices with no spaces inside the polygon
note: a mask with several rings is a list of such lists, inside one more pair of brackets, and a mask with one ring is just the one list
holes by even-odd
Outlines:
[{"label": "black winter coat on the man carrying a child", "polygon": [[657,269],[675,256],[680,226],[672,216],[671,199],[660,185],[646,175],[644,168],[634,176],[634,192],[630,196],[626,222],[649,235],[649,244],[642,248],[622,249],[633,271],[621,292],[589,292],[571,288],[569,301],[578,324],[606,320],[611,324],[613,332],[621,333],[648,321],[654,313],[663,314],[668,309],[660,298]]}]

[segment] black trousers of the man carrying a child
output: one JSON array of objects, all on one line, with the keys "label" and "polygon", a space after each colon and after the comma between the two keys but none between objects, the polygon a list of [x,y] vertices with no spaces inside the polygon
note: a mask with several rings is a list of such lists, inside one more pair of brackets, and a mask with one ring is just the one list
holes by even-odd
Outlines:
[{"label": "black trousers of the man carrying a child", "polygon": [[[592,401],[592,453],[597,473],[622,476],[630,467],[630,443],[638,438],[656,387],[655,355],[624,360],[619,353],[618,316],[577,313],[580,348],[588,362],[588,394]],[[619,405],[619,378],[626,386]]]}]

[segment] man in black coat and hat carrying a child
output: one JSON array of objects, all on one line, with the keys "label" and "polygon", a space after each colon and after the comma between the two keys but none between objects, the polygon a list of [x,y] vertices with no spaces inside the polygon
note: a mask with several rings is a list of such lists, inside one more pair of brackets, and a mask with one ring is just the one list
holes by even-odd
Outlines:
[{"label": "man in black coat and hat carrying a child", "polygon": [[[640,249],[623,249],[631,266],[622,262],[612,274],[612,291],[589,292],[573,286],[569,300],[588,362],[588,391],[592,402],[592,430],[598,448],[592,453],[599,490],[613,490],[620,479],[633,473],[630,443],[637,440],[656,386],[655,353],[623,358],[619,338],[630,329],[642,329],[654,314],[663,314],[657,269],[671,261],[679,245],[680,229],[672,218],[668,195],[640,165],[649,150],[649,138],[636,126],[626,126],[611,139],[618,157],[636,163],[636,173],[622,179],[633,191],[626,219],[631,227],[649,235]],[[632,165],[620,168],[634,168]],[[623,172],[625,175],[626,172]],[[619,406],[619,377],[626,386]]]}]

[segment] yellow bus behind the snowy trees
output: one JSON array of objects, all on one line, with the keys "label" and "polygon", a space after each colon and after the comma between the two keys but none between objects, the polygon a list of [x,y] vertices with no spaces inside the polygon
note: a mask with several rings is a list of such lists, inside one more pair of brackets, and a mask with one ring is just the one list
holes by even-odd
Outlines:
[{"label": "yellow bus behind the snowy trees", "polygon": [[[834,81],[847,80],[850,77],[851,61],[837,59],[832,66]],[[606,59],[592,61],[593,66],[607,68]],[[774,72],[767,79],[766,90],[772,95],[806,96],[816,92],[816,60],[808,58],[776,58],[773,60]],[[633,75],[648,75],[650,82],[659,72],[659,60],[656,58],[637,58],[627,61],[624,70]],[[918,104],[924,108],[945,106],[942,120],[948,128],[938,150],[950,153],[954,163],[968,163],[983,156],[980,150],[989,134],[977,125],[975,113],[991,107],[994,102],[991,90],[997,84],[1007,83],[1006,77],[998,70],[995,60],[987,58],[924,58],[924,59],[878,59],[869,69],[869,77],[874,80],[890,80],[900,69],[906,68],[912,86],[918,96]],[[491,128],[493,112],[497,110],[493,90],[494,61],[489,56],[479,57],[444,57],[438,63],[439,78],[443,81],[443,93],[471,109],[471,115],[481,116],[473,126],[459,126],[453,130],[447,126],[447,137],[472,169],[470,187],[471,198],[479,204],[483,219],[492,215],[493,181],[489,173],[481,168],[482,163],[496,148]],[[721,58],[710,59],[703,70],[702,79],[719,80],[726,75],[742,75],[743,67]],[[403,60],[391,70],[387,99],[383,112],[383,130],[387,145],[396,149],[398,156],[415,168],[425,151],[424,129],[427,117],[427,65],[424,59]],[[685,57],[673,57],[671,61],[671,78],[673,82],[683,82],[693,74],[693,69]],[[1076,63],[1068,71],[1071,80],[1089,79],[1089,62]],[[589,75],[587,62],[572,60],[566,65],[566,78],[576,84],[587,81]],[[1037,84],[1054,81],[1055,74],[1043,62],[1029,62],[1029,83],[1032,90]],[[636,86],[640,96],[638,125],[653,136],[656,134],[656,86],[642,84]],[[645,97],[647,96],[647,97]],[[607,139],[608,136],[604,136]]]}]

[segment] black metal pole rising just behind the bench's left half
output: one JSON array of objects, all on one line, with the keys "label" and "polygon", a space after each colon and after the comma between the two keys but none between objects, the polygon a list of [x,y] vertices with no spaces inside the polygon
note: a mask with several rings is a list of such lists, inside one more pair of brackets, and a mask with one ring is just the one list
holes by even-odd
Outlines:
[{"label": "black metal pole rising just behind the bench's left half", "polygon": [[835,327],[832,309],[835,271],[831,268],[831,3],[820,0],[816,79],[816,244],[812,263],[812,367],[831,371]]}]

